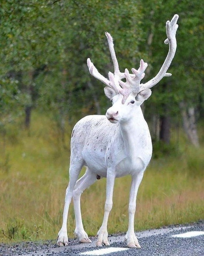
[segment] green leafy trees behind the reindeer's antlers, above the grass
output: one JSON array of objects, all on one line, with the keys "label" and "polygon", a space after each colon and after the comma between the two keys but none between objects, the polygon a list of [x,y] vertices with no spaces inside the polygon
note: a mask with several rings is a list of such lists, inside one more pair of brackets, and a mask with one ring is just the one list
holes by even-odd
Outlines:
[{"label": "green leafy trees behind the reindeer's antlers, above the grass", "polygon": [[[21,102],[49,110],[62,129],[65,117],[75,122],[87,113],[103,114],[103,85],[90,77],[86,60],[90,57],[105,76],[113,71],[104,32],[114,37],[121,70],[137,68],[140,58],[147,61],[145,81],[166,57],[165,22],[175,13],[180,19],[177,53],[169,70],[173,76],[153,89],[147,117],[163,114],[164,104],[170,106],[169,114],[179,115],[181,100],[203,109],[200,1],[2,1],[0,80],[6,80],[6,95],[13,98],[15,83],[19,101],[12,101],[13,109]],[[5,93],[2,96],[9,106]],[[101,109],[96,109],[96,101]]]}]

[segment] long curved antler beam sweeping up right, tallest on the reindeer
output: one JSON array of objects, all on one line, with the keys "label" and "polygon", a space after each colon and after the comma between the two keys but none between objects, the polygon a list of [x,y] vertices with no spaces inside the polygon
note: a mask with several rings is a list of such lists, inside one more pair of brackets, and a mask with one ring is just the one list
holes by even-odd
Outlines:
[{"label": "long curved antler beam sweeping up right, tallest on the reindeer", "polygon": [[171,19],[171,22],[169,20],[166,22],[167,39],[164,41],[164,43],[169,44],[169,52],[158,74],[147,83],[141,83],[140,91],[150,89],[151,87],[155,86],[165,76],[171,76],[171,73],[166,73],[166,71],[168,70],[171,64],[171,61],[173,60],[177,49],[176,32],[178,28],[178,18],[179,15],[175,14],[174,17]]}]

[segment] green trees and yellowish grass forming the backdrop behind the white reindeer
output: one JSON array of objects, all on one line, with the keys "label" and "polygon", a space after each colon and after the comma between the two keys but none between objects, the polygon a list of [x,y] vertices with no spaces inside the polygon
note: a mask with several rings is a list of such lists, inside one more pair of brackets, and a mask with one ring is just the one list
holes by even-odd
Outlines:
[{"label": "green trees and yellowish grass forming the backdrop behind the white reindeer", "polygon": [[[68,183],[71,129],[80,118],[105,114],[111,105],[103,84],[90,76],[86,64],[91,58],[105,76],[113,71],[105,31],[114,38],[120,70],[137,69],[141,58],[148,63],[145,82],[166,58],[165,24],[176,13],[177,52],[169,68],[173,75],[152,89],[142,107],[152,134],[153,159],[139,192],[136,228],[203,219],[201,1],[2,0],[1,242],[57,235]],[[104,182],[82,197],[90,235],[102,220]],[[127,227],[129,183],[128,177],[116,183],[117,209],[110,232]],[[119,198],[121,191],[125,192]],[[73,209],[69,225],[72,236]]]}]

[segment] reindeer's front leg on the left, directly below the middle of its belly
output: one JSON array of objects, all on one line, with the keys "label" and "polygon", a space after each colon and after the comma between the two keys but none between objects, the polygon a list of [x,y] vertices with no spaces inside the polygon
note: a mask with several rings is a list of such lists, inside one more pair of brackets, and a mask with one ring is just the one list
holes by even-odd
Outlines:
[{"label": "reindeer's front leg on the left, directly below the middle of its belly", "polygon": [[109,170],[107,170],[105,212],[103,217],[103,223],[97,233],[98,239],[96,242],[96,246],[110,245],[108,241],[107,224],[108,224],[109,213],[113,205],[114,181],[115,181],[115,173],[114,172],[109,173]]}]

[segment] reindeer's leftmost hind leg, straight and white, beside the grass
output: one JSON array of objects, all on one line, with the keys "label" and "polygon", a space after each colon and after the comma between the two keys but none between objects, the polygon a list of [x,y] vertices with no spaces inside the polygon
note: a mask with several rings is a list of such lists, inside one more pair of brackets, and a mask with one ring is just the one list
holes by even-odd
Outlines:
[{"label": "reindeer's leftmost hind leg, straight and white, beside the grass", "polygon": [[66,189],[65,194],[65,206],[63,211],[63,225],[58,233],[57,245],[63,246],[68,245],[68,236],[67,236],[67,217],[69,211],[69,205],[71,203],[71,198],[73,196],[73,189],[76,184],[76,181],[79,177],[79,173],[84,165],[83,161],[78,161],[77,163],[71,164],[69,169],[69,184]]}]

